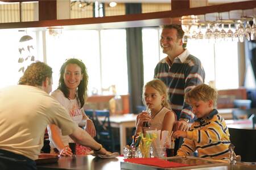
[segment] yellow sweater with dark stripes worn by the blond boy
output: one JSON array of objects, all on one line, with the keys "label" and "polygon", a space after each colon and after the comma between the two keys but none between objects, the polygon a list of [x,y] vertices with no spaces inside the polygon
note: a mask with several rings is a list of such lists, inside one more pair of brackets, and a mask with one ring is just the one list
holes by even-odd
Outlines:
[{"label": "yellow sweater with dark stripes worn by the blond boy", "polygon": [[201,158],[228,159],[229,145],[228,127],[214,109],[206,118],[198,118],[191,125],[177,155],[190,155],[197,150]]}]

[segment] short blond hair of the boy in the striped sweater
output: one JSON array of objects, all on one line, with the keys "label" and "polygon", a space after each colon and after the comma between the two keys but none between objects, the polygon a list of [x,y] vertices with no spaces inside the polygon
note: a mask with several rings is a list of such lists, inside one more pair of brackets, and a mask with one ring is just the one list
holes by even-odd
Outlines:
[{"label": "short blond hair of the boy in the striped sweater", "polygon": [[213,100],[213,104],[216,105],[217,96],[218,93],[214,88],[207,84],[200,84],[185,94],[185,102],[191,104],[191,100]]}]

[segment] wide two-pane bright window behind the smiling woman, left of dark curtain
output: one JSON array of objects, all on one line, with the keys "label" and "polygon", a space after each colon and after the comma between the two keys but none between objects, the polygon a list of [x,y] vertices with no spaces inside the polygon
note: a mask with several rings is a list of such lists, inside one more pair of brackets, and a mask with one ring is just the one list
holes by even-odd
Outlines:
[{"label": "wide two-pane bright window behind the smiling woman, left of dark curtain", "polygon": [[[57,88],[61,65],[67,58],[79,58],[87,67],[88,95],[115,85],[118,94],[128,93],[125,29],[63,31],[59,37],[47,33],[47,63],[53,68]],[[101,44],[101,45],[100,45]]]}]

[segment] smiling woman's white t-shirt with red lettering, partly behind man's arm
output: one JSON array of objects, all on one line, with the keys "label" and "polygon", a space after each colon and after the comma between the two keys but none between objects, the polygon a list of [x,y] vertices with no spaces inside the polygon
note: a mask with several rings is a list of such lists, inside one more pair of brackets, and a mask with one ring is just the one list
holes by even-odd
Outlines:
[{"label": "smiling woman's white t-shirt with red lettering, partly behind man's arm", "polygon": [[[65,97],[63,92],[60,90],[53,91],[51,96],[53,96],[57,101],[59,101],[61,105],[63,105],[65,109],[67,109],[69,116],[78,126],[78,124],[82,121],[82,115],[85,113],[84,113],[84,109],[79,108],[79,103],[77,99],[73,99],[73,100],[67,99],[67,97]],[[69,142],[73,142],[73,140],[68,135],[65,135],[65,136],[61,135],[61,130],[59,128],[57,128],[57,130],[61,137],[61,141],[65,146],[67,146]],[[51,133],[49,128],[48,128],[48,133],[49,134]],[[56,148],[52,142],[51,135],[49,135],[49,137],[50,137],[49,139],[50,139],[51,148]]]}]

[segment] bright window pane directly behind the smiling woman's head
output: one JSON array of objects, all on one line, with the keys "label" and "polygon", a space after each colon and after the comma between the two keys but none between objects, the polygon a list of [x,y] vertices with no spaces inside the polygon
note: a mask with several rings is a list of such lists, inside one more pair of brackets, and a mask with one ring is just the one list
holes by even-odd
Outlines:
[{"label": "bright window pane directly behind the smiling woman's head", "polygon": [[79,58],[88,70],[89,91],[100,89],[100,62],[98,31],[63,31],[59,37],[47,33],[47,63],[53,69],[53,86],[57,88],[60,67],[67,58]]}]

